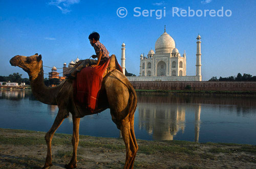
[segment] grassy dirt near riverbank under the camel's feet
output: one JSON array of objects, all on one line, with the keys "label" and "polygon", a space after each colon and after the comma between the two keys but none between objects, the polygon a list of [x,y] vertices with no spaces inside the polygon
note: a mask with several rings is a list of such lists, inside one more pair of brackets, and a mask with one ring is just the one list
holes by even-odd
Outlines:
[{"label": "grassy dirt near riverbank under the camel's feet", "polygon": [[[0,128],[0,168],[40,168],[47,146],[45,132]],[[53,137],[54,168],[63,168],[72,156],[72,135]],[[256,146],[137,140],[134,168],[255,168]],[[122,168],[125,147],[120,138],[80,135],[78,168]]]}]

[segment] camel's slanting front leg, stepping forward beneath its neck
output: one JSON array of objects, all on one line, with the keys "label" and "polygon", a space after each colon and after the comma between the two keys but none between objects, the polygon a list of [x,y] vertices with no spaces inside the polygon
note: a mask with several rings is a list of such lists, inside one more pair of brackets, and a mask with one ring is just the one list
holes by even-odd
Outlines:
[{"label": "camel's slanting front leg, stepping forward beneath its neck", "polygon": [[45,139],[47,143],[47,156],[46,163],[42,169],[48,169],[52,166],[52,137],[58,127],[61,125],[63,120],[69,116],[68,111],[66,109],[59,109],[58,114],[54,120],[54,123],[51,129],[46,133]]}]

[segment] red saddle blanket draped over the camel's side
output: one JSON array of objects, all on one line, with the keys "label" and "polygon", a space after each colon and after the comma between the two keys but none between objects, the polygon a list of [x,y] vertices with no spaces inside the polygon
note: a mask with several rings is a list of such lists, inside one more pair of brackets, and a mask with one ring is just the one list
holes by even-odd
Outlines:
[{"label": "red saddle blanket draped over the camel's side", "polygon": [[[85,105],[89,110],[94,112],[97,109],[97,99],[101,88],[103,73],[106,71],[110,59],[104,64],[94,68],[86,67],[76,74],[73,81],[73,93],[76,103]],[[122,68],[116,60],[117,69],[122,72]]]}]

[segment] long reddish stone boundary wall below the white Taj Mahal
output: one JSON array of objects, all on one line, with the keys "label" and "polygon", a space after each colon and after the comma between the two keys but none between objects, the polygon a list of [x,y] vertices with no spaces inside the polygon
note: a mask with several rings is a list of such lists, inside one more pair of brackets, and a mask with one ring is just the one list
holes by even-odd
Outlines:
[{"label": "long reddish stone boundary wall below the white Taj Mahal", "polygon": [[140,90],[256,91],[256,81],[130,81]]}]

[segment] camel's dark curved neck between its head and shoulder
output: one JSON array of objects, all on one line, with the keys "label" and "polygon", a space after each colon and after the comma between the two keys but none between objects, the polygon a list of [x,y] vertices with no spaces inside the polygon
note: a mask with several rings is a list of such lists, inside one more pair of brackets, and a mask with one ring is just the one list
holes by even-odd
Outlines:
[{"label": "camel's dark curved neck between its head and shoulder", "polygon": [[62,85],[47,87],[44,83],[44,71],[41,67],[36,78],[30,77],[30,86],[34,97],[42,103],[57,105],[56,98]]}]

